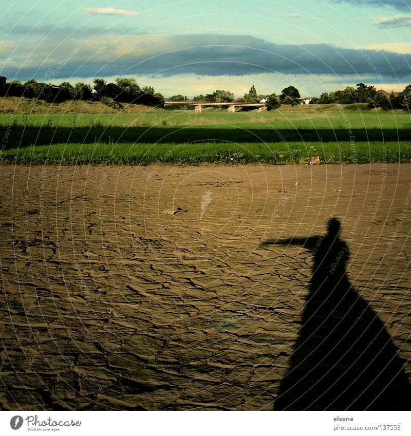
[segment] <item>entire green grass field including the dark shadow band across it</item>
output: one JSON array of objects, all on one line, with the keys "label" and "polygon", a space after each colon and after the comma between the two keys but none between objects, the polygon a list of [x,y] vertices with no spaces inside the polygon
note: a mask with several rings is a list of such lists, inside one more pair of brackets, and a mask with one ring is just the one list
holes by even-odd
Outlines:
[{"label": "entire green grass field including the dark shadow band across it", "polygon": [[1,158],[24,164],[410,162],[411,116],[327,105],[275,111],[0,114]]}]

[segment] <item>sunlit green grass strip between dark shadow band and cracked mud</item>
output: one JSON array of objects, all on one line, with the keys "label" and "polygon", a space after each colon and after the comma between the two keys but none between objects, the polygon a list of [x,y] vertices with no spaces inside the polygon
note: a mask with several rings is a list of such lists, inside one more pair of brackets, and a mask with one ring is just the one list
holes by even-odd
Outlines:
[{"label": "sunlit green grass strip between dark shadow band and cracked mud", "polygon": [[2,152],[3,161],[19,164],[58,165],[148,165],[170,163],[196,165],[203,162],[225,164],[304,164],[312,156],[322,163],[411,162],[411,142],[308,142],[188,143],[188,144],[53,144]]}]

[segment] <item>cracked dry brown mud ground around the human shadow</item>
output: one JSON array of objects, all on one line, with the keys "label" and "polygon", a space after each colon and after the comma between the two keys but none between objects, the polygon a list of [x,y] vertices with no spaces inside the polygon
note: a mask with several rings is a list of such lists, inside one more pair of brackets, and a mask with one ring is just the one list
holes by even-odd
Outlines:
[{"label": "cracked dry brown mud ground around the human shadow", "polygon": [[410,174],[3,165],[1,408],[272,410],[330,217],[409,378]]}]

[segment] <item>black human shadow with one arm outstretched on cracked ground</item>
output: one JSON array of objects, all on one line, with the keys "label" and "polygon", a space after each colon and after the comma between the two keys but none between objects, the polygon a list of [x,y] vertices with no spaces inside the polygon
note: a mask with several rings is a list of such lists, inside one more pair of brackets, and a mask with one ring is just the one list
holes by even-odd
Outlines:
[{"label": "black human shadow with one arm outstretched on cracked ground", "polygon": [[314,258],[302,326],[274,410],[409,410],[405,362],[350,285],[340,228],[332,218],[323,236],[262,244],[302,245]]}]

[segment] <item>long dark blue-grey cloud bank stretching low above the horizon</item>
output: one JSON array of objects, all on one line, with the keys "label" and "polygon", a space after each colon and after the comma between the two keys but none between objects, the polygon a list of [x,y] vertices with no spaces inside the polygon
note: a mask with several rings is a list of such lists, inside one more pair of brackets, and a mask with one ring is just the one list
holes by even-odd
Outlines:
[{"label": "long dark blue-grey cloud bank stretching low above the horizon", "polygon": [[[103,49],[98,55],[95,55],[96,47],[99,48],[96,44],[98,41],[92,45],[84,43],[64,66],[64,76],[60,77],[107,77],[119,71],[162,76],[280,72],[357,77],[378,72],[390,78],[402,78],[411,73],[410,54],[345,49],[327,44],[273,44],[245,35],[142,36],[129,45],[125,45],[125,41],[110,46],[102,43]],[[9,70],[8,74],[15,72]],[[30,78],[33,71],[24,67],[18,75]],[[44,72],[39,70],[38,76],[41,75],[44,76]]]}]

